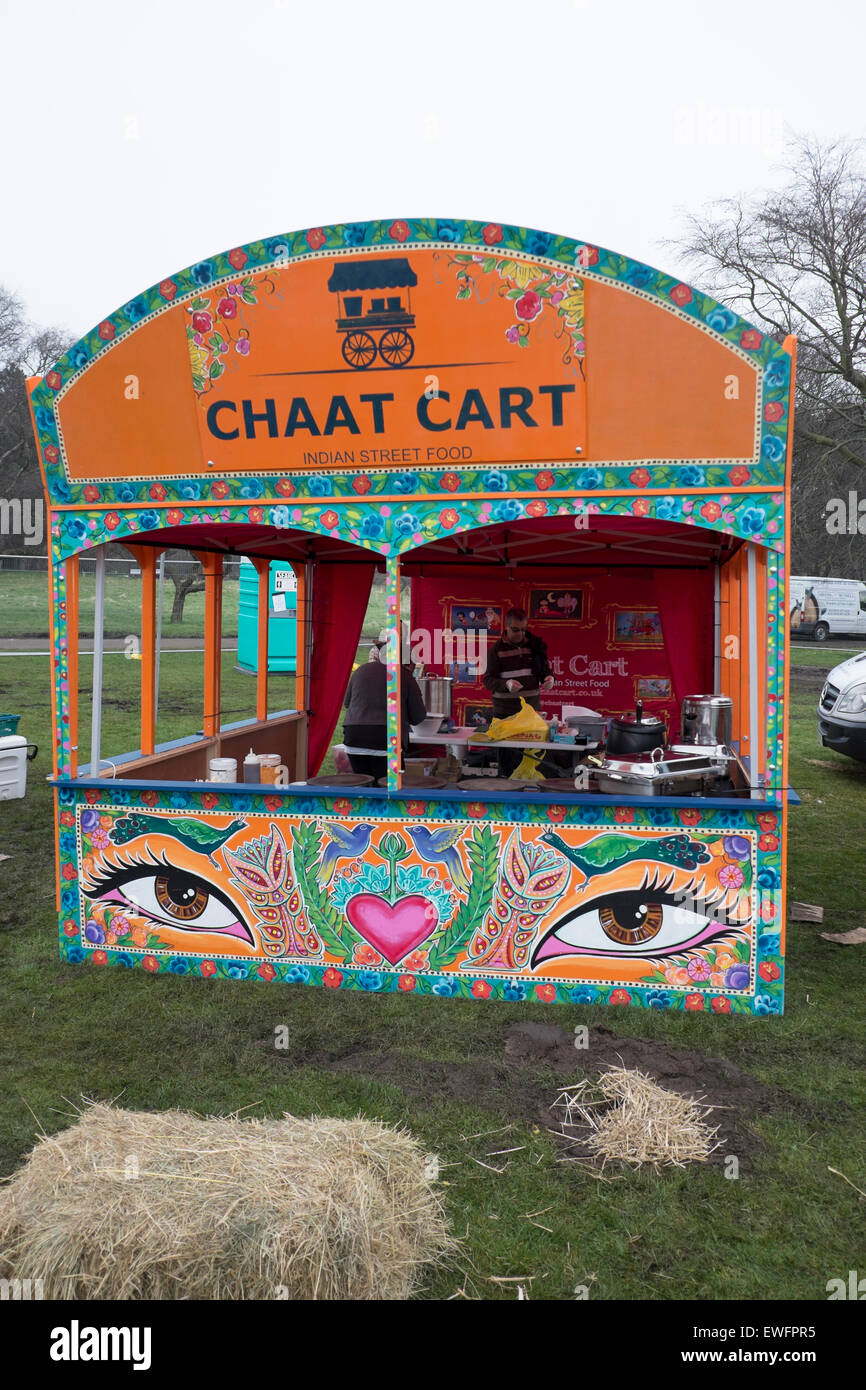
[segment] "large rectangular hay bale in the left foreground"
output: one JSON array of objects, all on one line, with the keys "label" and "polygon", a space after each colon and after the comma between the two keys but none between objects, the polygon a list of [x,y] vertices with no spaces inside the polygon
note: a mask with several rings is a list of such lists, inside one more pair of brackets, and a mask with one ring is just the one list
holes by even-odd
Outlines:
[{"label": "large rectangular hay bale in the left foreground", "polygon": [[410,1134],[88,1105],[0,1191],[46,1298],[407,1298],[455,1245]]}]

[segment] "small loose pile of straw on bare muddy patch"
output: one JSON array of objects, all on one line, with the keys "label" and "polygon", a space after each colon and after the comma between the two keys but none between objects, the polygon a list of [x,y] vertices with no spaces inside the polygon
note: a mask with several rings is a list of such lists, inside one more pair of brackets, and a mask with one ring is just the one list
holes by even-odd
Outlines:
[{"label": "small loose pile of straw on bare muddy patch", "polygon": [[688,1095],[666,1091],[652,1077],[624,1066],[603,1072],[598,1083],[588,1079],[560,1091],[552,1109],[563,1111],[562,1133],[573,1137],[578,1120],[589,1133],[580,1137],[585,1148],[605,1162],[621,1158],[653,1168],[706,1163],[719,1143],[706,1115],[712,1106]]}]

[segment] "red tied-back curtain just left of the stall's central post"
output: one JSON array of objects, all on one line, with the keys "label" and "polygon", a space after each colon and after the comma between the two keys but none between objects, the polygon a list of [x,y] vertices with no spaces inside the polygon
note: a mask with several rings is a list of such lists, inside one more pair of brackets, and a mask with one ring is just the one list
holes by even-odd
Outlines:
[{"label": "red tied-back curtain just left of the stall's central post", "polygon": [[328,751],[352,674],[375,563],[322,564],[313,571],[313,660],[309,763],[316,776]]}]

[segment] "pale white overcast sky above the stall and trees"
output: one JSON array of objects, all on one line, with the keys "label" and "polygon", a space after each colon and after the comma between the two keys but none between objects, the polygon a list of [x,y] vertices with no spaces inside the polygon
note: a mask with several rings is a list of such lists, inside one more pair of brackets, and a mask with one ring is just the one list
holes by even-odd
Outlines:
[{"label": "pale white overcast sky above the stall and trees", "polygon": [[[471,217],[688,274],[685,211],[866,135],[860,0],[0,0],[0,284],[81,334],[218,250]],[[694,272],[692,272],[694,278]]]}]

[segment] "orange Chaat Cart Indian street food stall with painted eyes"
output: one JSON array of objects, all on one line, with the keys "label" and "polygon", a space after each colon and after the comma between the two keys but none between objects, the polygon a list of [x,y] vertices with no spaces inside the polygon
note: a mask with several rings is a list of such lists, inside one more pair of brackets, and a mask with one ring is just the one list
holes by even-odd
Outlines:
[{"label": "orange Chaat Cart Indian street food stall with painted eyes", "polygon": [[[64,959],[781,1012],[794,348],[627,256],[452,220],[235,247],[103,320],[31,382],[50,509]],[[104,758],[110,541],[142,571],[142,708],[140,746]],[[154,573],[170,546],[203,564],[204,681],[202,728],[158,745]],[[82,555],[97,557],[89,760]],[[256,716],[228,727],[227,555],[249,559],[260,585]],[[277,714],[272,560],[297,575],[296,708]],[[377,571],[388,777],[346,785],[317,774]],[[553,657],[542,706],[563,739],[556,790],[503,790],[485,769],[468,785],[405,777],[405,595],[441,677],[446,630],[474,632],[484,653],[507,609],[527,609]],[[473,706],[489,696],[482,656],[455,664],[452,724],[425,721],[413,739],[438,755],[450,738],[463,774],[482,733]],[[712,696],[730,727],[712,723]],[[562,717],[569,708],[601,716],[606,741]],[[708,719],[709,739],[695,734]],[[232,759],[239,778],[249,748],[278,755],[274,783],[213,780]]]}]

